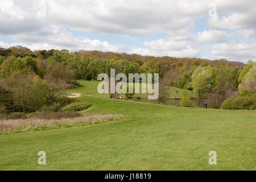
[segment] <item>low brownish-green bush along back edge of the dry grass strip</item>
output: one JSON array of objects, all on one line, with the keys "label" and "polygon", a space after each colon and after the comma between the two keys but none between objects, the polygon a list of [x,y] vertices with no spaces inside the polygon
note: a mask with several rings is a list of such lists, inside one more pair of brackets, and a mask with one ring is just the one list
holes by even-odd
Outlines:
[{"label": "low brownish-green bush along back edge of the dry grass strip", "polygon": [[75,118],[81,114],[76,111],[41,111],[36,115],[36,118],[40,119],[63,119],[63,118]]}]

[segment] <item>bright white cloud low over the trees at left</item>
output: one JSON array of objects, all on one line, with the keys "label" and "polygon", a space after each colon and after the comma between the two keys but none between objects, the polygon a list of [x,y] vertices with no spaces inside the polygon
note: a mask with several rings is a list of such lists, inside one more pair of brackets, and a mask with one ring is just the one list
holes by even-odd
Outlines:
[{"label": "bright white cloud low over the trees at left", "polygon": [[[42,36],[39,36],[41,34]],[[32,44],[11,43],[6,44],[0,42],[0,47],[8,48],[15,45],[25,46],[33,50],[39,49],[68,49],[69,51],[84,50],[98,50],[98,51],[113,51],[118,52],[122,45],[113,46],[106,41],[89,38],[77,39],[74,38],[71,32],[59,26],[52,26],[48,30],[41,32],[31,32],[30,34],[18,34],[11,36],[13,39],[22,40],[23,42],[32,42]]]}]

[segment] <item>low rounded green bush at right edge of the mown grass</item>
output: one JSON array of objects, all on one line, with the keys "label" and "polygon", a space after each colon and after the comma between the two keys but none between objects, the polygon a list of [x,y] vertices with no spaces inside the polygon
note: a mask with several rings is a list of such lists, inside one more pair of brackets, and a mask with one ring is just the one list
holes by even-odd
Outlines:
[{"label": "low rounded green bush at right edge of the mown grass", "polygon": [[237,96],[222,103],[221,109],[256,109],[256,95]]}]

